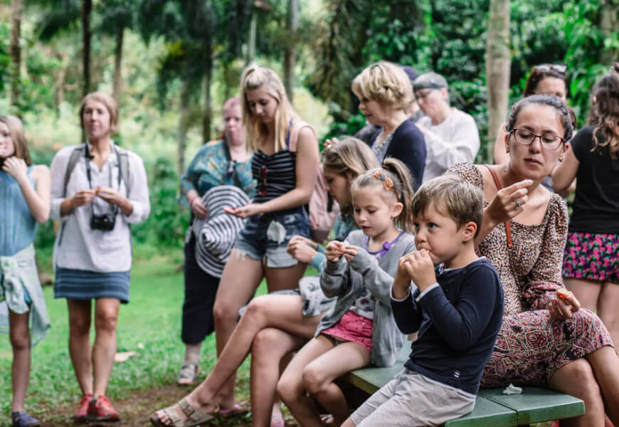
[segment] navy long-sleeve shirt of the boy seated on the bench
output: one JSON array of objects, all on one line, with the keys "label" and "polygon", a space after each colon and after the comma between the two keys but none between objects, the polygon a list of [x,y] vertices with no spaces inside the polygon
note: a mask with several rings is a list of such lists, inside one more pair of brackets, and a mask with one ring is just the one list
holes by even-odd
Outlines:
[{"label": "navy long-sleeve shirt of the boy seated on the bench", "polygon": [[423,294],[391,298],[401,332],[419,332],[404,364],[429,379],[477,393],[503,318],[503,289],[494,267],[480,258],[462,268],[437,268]]}]

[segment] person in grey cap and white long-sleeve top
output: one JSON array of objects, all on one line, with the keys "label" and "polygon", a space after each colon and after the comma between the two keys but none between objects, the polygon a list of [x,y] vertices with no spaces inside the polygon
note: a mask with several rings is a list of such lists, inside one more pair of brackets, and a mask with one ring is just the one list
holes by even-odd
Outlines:
[{"label": "person in grey cap and white long-sleeve top", "polygon": [[440,176],[454,164],[473,162],[480,149],[480,134],[471,115],[449,105],[447,80],[425,73],[413,82],[413,92],[425,114],[417,127],[425,137],[423,181]]}]

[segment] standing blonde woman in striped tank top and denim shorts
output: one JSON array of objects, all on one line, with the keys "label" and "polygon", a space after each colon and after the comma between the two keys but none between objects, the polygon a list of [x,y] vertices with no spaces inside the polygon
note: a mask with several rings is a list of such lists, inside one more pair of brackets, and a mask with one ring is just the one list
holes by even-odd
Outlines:
[{"label": "standing blonde woman in striped tank top and denim shorts", "polygon": [[[302,122],[288,101],[282,81],[269,68],[252,64],[241,77],[243,123],[253,149],[252,173],[257,194],[228,214],[247,218],[221,276],[213,316],[217,351],[221,353],[238,320],[238,310],[263,278],[269,292],[295,288],[306,263],[287,252],[292,236],[309,238],[309,203],[319,167],[314,129]],[[219,413],[238,408],[235,376],[216,399]]]}]

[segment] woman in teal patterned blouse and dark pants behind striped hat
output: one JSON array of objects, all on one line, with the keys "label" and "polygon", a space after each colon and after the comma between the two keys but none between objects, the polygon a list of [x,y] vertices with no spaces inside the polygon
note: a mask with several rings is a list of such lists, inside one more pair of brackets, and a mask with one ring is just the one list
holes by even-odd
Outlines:
[{"label": "woman in teal patterned blouse and dark pants behind striped hat", "polygon": [[181,385],[195,384],[200,347],[204,338],[215,330],[213,304],[223,270],[223,265],[213,263],[208,271],[201,268],[196,260],[196,235],[192,223],[196,218],[208,218],[203,196],[216,186],[238,186],[250,198],[255,194],[251,151],[245,142],[240,99],[226,100],[222,112],[223,137],[203,145],[181,177],[181,193],[191,206],[191,221],[185,239],[185,299],[181,321],[185,358],[177,379]]}]

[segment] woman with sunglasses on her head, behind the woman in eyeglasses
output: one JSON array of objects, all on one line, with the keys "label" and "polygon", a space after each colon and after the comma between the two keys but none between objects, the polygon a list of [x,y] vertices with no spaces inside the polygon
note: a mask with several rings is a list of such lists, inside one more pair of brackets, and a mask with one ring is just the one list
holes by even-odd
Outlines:
[{"label": "woman with sunglasses on her head, behind the woman in eyeglasses", "polygon": [[[541,64],[534,66],[524,85],[524,97],[531,95],[550,95],[567,100],[568,83],[566,66],[561,64]],[[505,125],[499,127],[497,139],[494,142],[494,164],[502,164],[509,160],[505,151]]]}]

